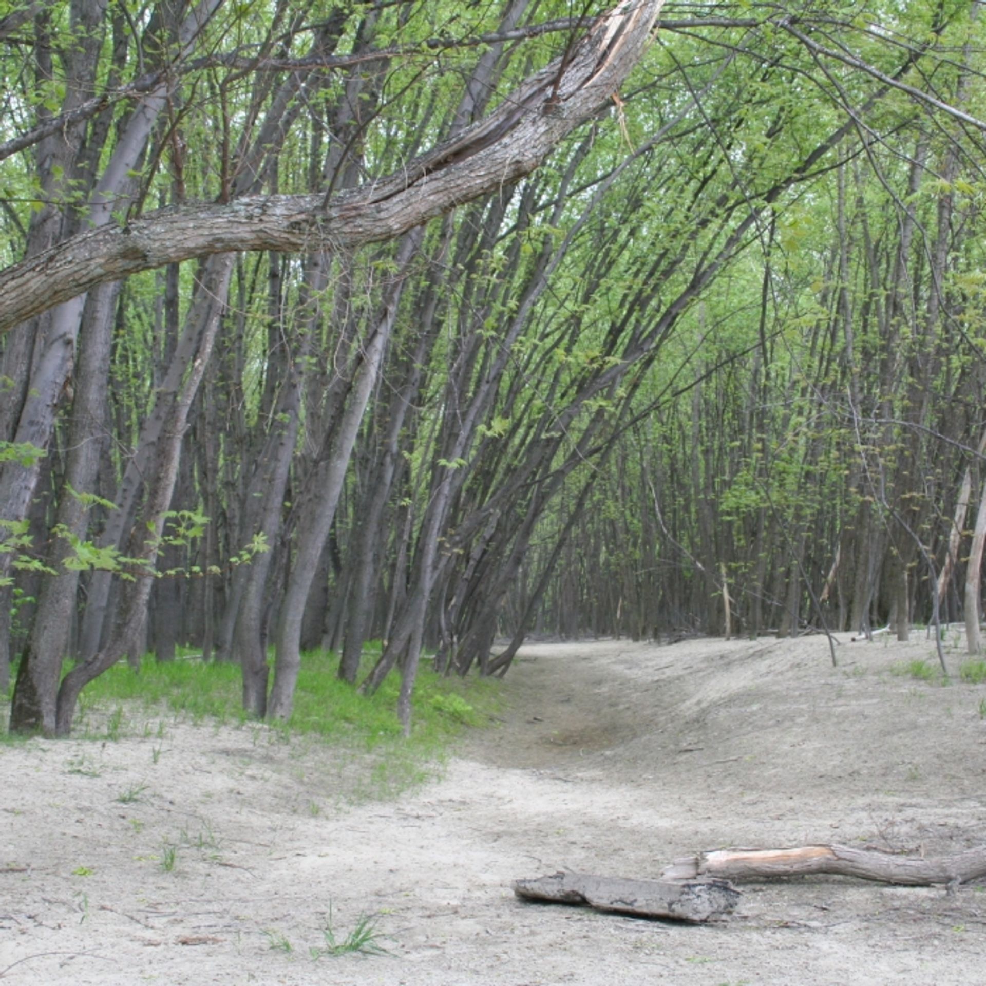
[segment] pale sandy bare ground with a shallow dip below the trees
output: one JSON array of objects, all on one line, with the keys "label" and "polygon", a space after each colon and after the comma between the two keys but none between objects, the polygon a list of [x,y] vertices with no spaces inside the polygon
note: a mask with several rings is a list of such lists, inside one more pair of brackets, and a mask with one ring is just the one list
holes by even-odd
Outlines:
[{"label": "pale sandy bare ground with a shallow dip below the trees", "polygon": [[[0,979],[980,986],[982,881],[744,883],[701,927],[511,890],[721,846],[986,843],[986,684],[957,649],[951,683],[901,673],[937,664],[913,636],[844,642],[835,669],[820,637],[530,646],[503,721],[390,803],[353,800],[366,754],[255,725],[9,743]],[[387,954],[327,954],[364,915]]]}]

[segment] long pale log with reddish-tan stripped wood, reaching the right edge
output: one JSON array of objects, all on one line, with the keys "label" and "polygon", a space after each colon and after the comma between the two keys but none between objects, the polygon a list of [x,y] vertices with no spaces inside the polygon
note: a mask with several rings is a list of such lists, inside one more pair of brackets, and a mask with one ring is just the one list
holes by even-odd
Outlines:
[{"label": "long pale log with reddish-tan stripped wood, reaching the right edge", "polygon": [[910,886],[958,884],[986,876],[986,846],[938,859],[896,856],[876,849],[853,849],[838,845],[799,846],[793,849],[719,849],[675,860],[665,868],[661,879],[715,877],[721,880],[750,880],[818,873]]}]

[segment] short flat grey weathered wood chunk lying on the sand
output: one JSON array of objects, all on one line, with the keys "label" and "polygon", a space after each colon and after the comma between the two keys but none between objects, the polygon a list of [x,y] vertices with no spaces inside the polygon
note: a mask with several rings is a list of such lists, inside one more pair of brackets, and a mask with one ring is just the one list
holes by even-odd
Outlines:
[{"label": "short flat grey weathered wood chunk lying on the sand", "polygon": [[740,891],[725,880],[623,880],[581,873],[516,880],[514,892],[528,900],[696,923],[731,914],[740,899]]}]

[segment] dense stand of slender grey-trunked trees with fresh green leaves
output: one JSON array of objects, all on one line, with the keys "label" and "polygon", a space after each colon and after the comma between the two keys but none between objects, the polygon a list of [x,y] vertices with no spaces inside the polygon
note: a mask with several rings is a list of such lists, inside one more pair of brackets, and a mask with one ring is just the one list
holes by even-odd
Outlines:
[{"label": "dense stand of slender grey-trunked trees with fresh green leaves", "polygon": [[0,3],[11,732],[182,648],[271,720],[305,652],[395,669],[405,729],[423,655],[502,675],[532,637],[978,653],[984,28]]}]

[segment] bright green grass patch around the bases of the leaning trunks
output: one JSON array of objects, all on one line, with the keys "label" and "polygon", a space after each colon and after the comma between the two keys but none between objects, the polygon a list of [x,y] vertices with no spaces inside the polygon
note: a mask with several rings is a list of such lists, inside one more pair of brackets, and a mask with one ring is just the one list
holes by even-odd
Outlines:
[{"label": "bright green grass patch around the bases of the leaning trunks", "polygon": [[[367,650],[372,663],[380,645],[370,641]],[[335,797],[352,802],[393,798],[433,778],[466,727],[494,727],[499,718],[499,682],[437,675],[426,663],[415,689],[413,728],[405,737],[396,715],[399,675],[389,675],[376,694],[361,695],[338,679],[338,664],[336,655],[306,653],[294,713],[268,726],[244,710],[235,665],[206,664],[186,648],[168,663],[148,655],[137,667],[115,665],[93,682],[80,701],[75,733],[101,743],[151,740],[154,763],[178,723],[204,731],[247,729],[254,744],[316,741],[341,756],[340,762],[351,761],[353,776],[340,775]],[[80,760],[76,769],[84,771],[86,763]],[[137,787],[121,792],[117,801],[129,804],[142,796]]]}]

